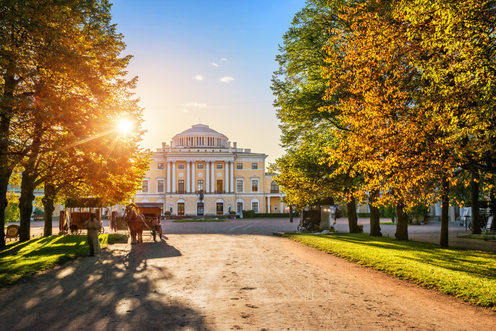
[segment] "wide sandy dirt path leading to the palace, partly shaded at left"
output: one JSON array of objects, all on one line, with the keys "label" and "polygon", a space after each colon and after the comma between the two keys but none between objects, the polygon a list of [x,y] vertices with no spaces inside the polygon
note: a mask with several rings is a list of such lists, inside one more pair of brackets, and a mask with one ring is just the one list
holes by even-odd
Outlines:
[{"label": "wide sandy dirt path leading to the palace, partly shaded at left", "polygon": [[170,223],[0,290],[2,330],[492,330],[496,314],[271,236]]}]

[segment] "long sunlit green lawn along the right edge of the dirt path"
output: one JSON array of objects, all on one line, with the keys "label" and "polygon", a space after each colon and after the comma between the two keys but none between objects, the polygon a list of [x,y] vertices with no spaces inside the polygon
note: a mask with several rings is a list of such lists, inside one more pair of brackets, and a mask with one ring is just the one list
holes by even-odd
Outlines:
[{"label": "long sunlit green lawn along the right edge of the dirt path", "polygon": [[401,279],[496,310],[496,254],[363,233],[285,237]]}]

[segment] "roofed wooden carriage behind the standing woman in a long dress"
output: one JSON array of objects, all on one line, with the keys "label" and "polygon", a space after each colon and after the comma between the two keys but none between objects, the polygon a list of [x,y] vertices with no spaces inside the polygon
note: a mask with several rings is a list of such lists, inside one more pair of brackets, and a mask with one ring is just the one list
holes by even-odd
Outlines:
[{"label": "roofed wooden carriage behind the standing woman in a long dress", "polygon": [[[77,198],[67,199],[65,207],[69,213],[69,227],[67,234],[81,234],[84,223],[90,219],[90,214],[94,213],[98,221],[102,222],[102,203],[97,198]],[[102,226],[98,230],[98,234],[105,232]]]}]

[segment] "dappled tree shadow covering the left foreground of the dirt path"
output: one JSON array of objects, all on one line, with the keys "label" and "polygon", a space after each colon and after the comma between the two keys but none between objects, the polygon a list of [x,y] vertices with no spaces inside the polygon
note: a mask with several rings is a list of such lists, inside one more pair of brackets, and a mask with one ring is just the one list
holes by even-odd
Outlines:
[{"label": "dappled tree shadow covering the left foreground of the dirt path", "polygon": [[176,248],[165,241],[119,247],[0,289],[2,329],[208,330],[201,313],[168,290],[173,274],[163,259],[181,256]]}]

